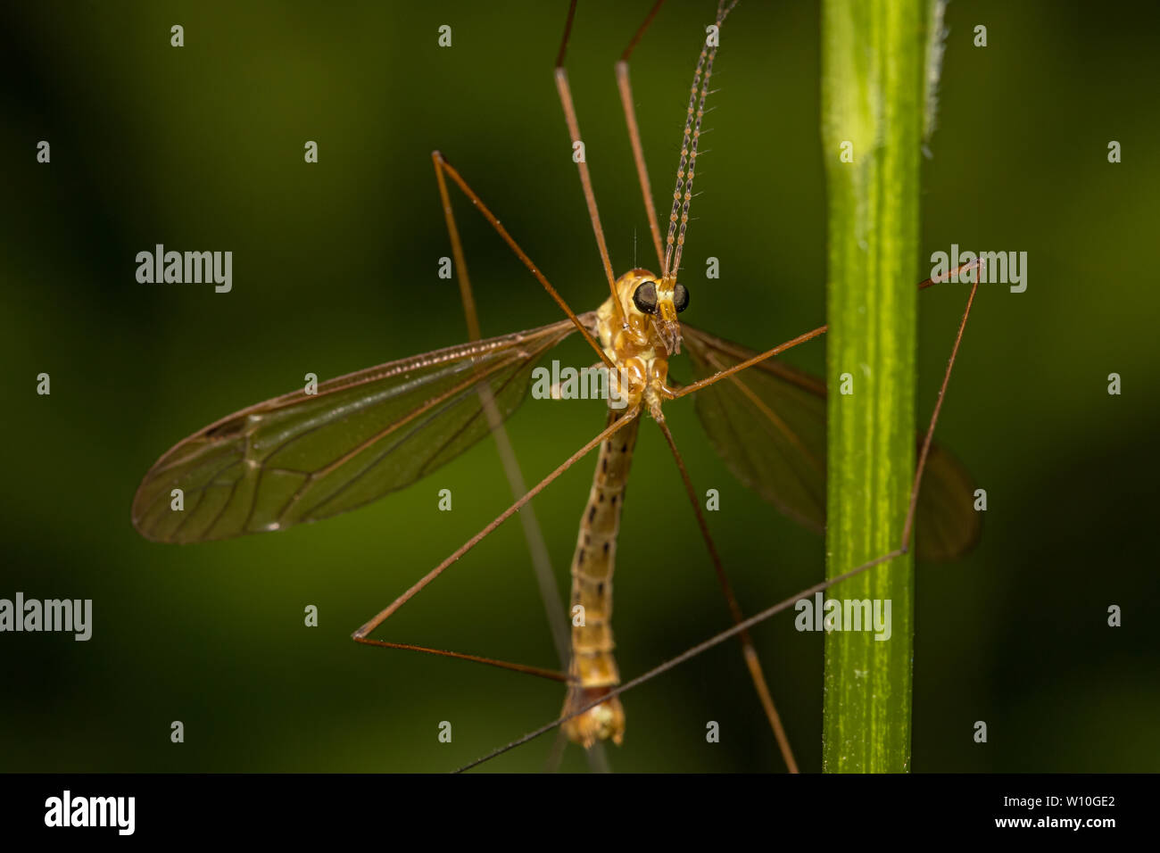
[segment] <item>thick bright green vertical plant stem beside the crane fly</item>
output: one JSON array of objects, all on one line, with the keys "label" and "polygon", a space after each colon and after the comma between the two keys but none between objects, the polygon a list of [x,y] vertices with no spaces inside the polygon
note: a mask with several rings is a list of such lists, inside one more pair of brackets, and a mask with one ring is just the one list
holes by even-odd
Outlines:
[{"label": "thick bright green vertical plant stem beside the crane fly", "polygon": [[[829,191],[827,577],[897,548],[914,476],[914,354],[926,0],[826,0],[822,145]],[[853,162],[841,160],[853,145]],[[848,376],[848,379],[847,379]],[[841,393],[843,384],[851,393]],[[909,556],[829,591],[891,602],[891,636],[826,637],[822,767],[911,762]],[[843,628],[849,628],[844,624]]]}]

